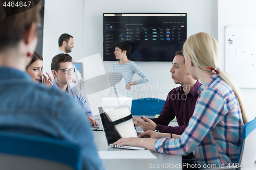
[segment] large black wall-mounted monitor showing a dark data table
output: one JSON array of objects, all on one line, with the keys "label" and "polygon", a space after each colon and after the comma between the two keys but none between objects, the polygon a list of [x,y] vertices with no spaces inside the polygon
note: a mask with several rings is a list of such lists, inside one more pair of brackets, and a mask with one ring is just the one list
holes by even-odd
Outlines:
[{"label": "large black wall-mounted monitor showing a dark data table", "polygon": [[103,60],[115,61],[115,45],[127,42],[133,61],[173,61],[187,37],[186,13],[103,13]]}]

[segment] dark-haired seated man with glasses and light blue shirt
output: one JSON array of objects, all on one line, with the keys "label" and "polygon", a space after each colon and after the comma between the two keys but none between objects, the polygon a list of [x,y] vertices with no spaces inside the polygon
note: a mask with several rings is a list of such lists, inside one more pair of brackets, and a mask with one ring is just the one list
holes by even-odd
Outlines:
[{"label": "dark-haired seated man with glasses and light blue shirt", "polygon": [[75,72],[75,68],[73,68],[72,64],[72,57],[68,54],[58,54],[54,56],[51,63],[51,69],[55,79],[52,87],[74,96],[75,100],[82,106],[91,125],[98,126],[81,90],[77,86],[71,84],[73,73]]}]

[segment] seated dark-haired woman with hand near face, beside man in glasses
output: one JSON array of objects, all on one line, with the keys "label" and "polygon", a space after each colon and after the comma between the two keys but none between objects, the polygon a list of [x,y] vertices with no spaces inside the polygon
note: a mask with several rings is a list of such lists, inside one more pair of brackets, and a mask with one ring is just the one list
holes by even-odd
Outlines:
[{"label": "seated dark-haired woman with hand near face, beside man in glasses", "polygon": [[46,72],[46,74],[49,76],[48,79],[47,76],[42,73],[42,56],[36,51],[34,52],[32,60],[30,64],[27,66],[26,71],[32,77],[35,83],[38,83],[40,78],[44,76],[44,78],[42,78],[42,83],[48,86],[53,85],[50,74]]}]

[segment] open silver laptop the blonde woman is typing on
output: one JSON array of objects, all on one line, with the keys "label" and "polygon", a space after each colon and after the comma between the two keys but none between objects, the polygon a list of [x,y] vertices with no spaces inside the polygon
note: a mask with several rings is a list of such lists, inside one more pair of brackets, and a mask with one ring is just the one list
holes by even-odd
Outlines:
[{"label": "open silver laptop the blonde woman is typing on", "polygon": [[138,137],[129,106],[102,106],[98,109],[101,123],[105,132],[106,141],[110,147],[145,150],[145,148],[141,147],[113,144],[122,137]]}]

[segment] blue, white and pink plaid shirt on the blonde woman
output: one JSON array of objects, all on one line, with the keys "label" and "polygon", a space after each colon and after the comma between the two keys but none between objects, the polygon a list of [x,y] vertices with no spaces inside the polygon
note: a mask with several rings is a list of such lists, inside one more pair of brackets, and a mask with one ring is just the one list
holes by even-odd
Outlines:
[{"label": "blue, white and pink plaid shirt on the blonde woman", "polygon": [[218,75],[198,90],[199,97],[188,127],[179,138],[161,138],[160,153],[187,155],[194,151],[201,168],[205,164],[236,163],[240,151],[243,119],[238,99]]}]

